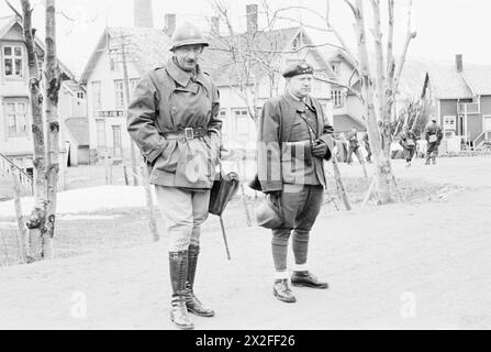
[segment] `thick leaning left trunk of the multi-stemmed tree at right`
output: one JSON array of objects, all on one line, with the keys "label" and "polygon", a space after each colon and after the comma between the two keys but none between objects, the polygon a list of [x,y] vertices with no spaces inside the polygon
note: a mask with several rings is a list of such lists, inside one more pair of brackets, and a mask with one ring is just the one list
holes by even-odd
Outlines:
[{"label": "thick leaning left trunk of the multi-stemmed tree at right", "polygon": [[356,0],[356,7],[349,1],[355,15],[355,31],[358,45],[358,59],[360,64],[361,89],[365,98],[365,110],[367,117],[368,138],[372,148],[376,168],[376,189],[379,204],[389,204],[394,201],[391,191],[392,170],[390,161],[383,154],[380,133],[377,124],[377,112],[373,106],[373,87],[370,79],[370,70],[368,66],[368,50],[365,33],[364,4],[362,0]]}]

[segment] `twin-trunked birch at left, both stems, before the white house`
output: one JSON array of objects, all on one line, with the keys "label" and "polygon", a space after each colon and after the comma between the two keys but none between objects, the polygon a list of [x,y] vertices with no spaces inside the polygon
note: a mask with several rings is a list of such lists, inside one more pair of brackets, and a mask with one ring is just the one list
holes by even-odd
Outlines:
[{"label": "twin-trunked birch at left, both stems, before the white house", "polygon": [[[40,256],[53,256],[53,237],[56,219],[56,194],[58,182],[59,119],[58,92],[62,74],[56,55],[56,10],[55,0],[45,3],[45,53],[43,75],[38,69],[38,57],[35,44],[35,30],[32,28],[32,7],[30,0],[21,0],[23,13],[24,41],[29,58],[29,88],[33,114],[34,143],[34,208],[26,227],[31,238],[41,240]],[[44,88],[44,91],[42,89]],[[44,108],[44,113],[43,113]],[[45,125],[47,127],[45,131]],[[45,139],[46,135],[46,139]],[[37,251],[37,249],[34,249]],[[32,253],[34,258],[37,253]]]}]

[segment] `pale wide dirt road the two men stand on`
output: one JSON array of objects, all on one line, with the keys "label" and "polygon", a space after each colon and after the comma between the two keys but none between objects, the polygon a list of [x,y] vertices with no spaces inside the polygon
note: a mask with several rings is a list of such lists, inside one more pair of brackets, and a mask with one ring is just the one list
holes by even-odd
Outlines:
[{"label": "pale wide dirt road the two men stand on", "polygon": [[[309,262],[331,287],[294,288],[294,305],[272,296],[268,231],[231,231],[232,261],[220,233],[203,233],[197,293],[216,317],[196,328],[491,329],[491,158],[439,162],[394,170],[466,189],[323,215]],[[174,329],[166,245],[0,270],[0,329]]]}]

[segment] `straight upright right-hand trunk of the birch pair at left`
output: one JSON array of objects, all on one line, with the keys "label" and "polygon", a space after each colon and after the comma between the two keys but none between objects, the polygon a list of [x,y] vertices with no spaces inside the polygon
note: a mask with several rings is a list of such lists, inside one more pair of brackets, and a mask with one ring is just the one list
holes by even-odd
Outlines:
[{"label": "straight upright right-hand trunk of the birch pair at left", "polygon": [[56,10],[55,0],[46,0],[46,176],[47,207],[46,234],[43,237],[43,257],[52,258],[53,237],[55,235],[56,197],[58,190],[59,170],[59,118],[58,92],[62,85],[62,73],[56,54]]}]

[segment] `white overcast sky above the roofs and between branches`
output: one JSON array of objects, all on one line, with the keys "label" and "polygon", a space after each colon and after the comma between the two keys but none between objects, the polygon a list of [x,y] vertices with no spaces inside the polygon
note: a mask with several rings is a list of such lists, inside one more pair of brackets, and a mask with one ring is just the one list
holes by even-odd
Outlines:
[{"label": "white overcast sky above the roofs and between branches", "polygon": [[[10,0],[20,9],[20,1]],[[246,3],[260,3],[261,0],[228,1],[230,12],[237,29],[245,24]],[[381,1],[386,3],[384,0]],[[35,6],[35,25],[42,31],[43,1],[33,0]],[[346,40],[354,44],[353,15],[343,0],[331,0],[331,16],[334,24]],[[365,1],[367,15],[369,1]],[[395,0],[397,4],[397,43],[400,50],[405,35],[406,9],[409,0]],[[271,9],[288,6],[304,6],[325,14],[325,0],[268,0]],[[58,16],[58,52],[62,61],[77,75],[83,69],[103,29],[110,26],[133,25],[133,0],[58,0],[57,7],[67,16]],[[259,4],[259,8],[261,6]],[[164,14],[176,13],[177,22],[191,21],[203,29],[208,26],[207,16],[213,15],[210,1],[207,0],[154,0],[154,26],[164,26]],[[491,13],[489,0],[413,0],[412,28],[417,31],[416,40],[411,44],[410,56],[451,62],[456,53],[464,54],[467,63],[491,65],[491,29],[487,23]],[[0,3],[0,15],[9,14]],[[261,15],[259,14],[259,18]],[[279,21],[278,26],[292,26],[301,21],[305,25],[322,26],[323,23],[309,11],[290,11],[284,16],[293,21]],[[367,19],[370,24],[370,19]],[[222,24],[222,29],[224,25]],[[308,29],[317,44],[330,41],[323,32]]]}]

